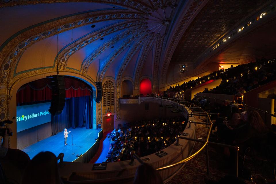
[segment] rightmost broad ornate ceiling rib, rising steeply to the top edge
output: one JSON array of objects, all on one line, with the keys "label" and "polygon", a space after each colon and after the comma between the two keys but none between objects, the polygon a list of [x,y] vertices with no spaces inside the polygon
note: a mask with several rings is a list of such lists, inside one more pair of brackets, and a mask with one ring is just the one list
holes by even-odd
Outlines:
[{"label": "rightmost broad ornate ceiling rib, rising steeply to the top edge", "polygon": [[[205,2],[207,2],[206,0]],[[184,16],[182,16],[181,22],[178,24],[177,29],[173,33],[172,39],[170,39],[170,43],[168,48],[166,49],[166,53],[164,55],[164,60],[162,63],[161,70],[159,71],[159,76],[160,76],[160,84],[165,85],[166,82],[166,74],[168,70],[168,66],[170,63],[170,59],[173,55],[174,48],[177,45],[177,41],[179,37],[181,36],[181,33],[183,33],[184,28],[187,26],[187,23],[189,20],[193,17],[193,15],[200,10],[200,7],[203,7],[205,3],[203,3],[204,0],[194,0],[192,3],[190,3],[189,8],[187,9],[186,13]],[[164,50],[165,51],[165,50]]]}]

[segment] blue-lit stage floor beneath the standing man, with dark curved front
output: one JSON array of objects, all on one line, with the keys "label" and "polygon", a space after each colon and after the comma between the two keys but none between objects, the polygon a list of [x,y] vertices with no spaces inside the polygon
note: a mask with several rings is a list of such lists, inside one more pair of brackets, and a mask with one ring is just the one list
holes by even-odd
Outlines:
[{"label": "blue-lit stage floor beneath the standing man, with dark curved front", "polygon": [[[102,129],[86,129],[83,127],[76,129],[69,128],[67,130],[68,132],[71,131],[68,134],[68,145],[64,145],[63,132],[59,132],[57,135],[53,135],[24,148],[22,151],[26,152],[30,159],[39,152],[50,151],[56,156],[64,153],[64,161],[66,162],[88,163],[98,151],[99,140],[103,137]],[[77,157],[77,155],[81,154],[82,156]]]}]

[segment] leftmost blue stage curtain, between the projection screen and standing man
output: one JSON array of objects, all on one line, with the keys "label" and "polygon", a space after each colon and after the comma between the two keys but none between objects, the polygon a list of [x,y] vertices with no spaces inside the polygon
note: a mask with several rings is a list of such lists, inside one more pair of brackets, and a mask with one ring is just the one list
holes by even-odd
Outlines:
[{"label": "leftmost blue stage curtain, between the projection screen and standing man", "polygon": [[63,131],[65,128],[72,127],[72,122],[70,120],[70,99],[65,100],[62,113],[52,116],[51,122],[53,135]]}]

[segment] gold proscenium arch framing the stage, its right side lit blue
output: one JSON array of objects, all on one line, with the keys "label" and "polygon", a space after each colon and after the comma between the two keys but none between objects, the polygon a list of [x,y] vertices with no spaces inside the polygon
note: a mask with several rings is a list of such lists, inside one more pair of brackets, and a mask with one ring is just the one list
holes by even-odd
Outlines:
[{"label": "gold proscenium arch framing the stage, its right side lit blue", "polygon": [[[96,91],[95,91],[96,87],[94,83],[90,81],[88,78],[86,78],[85,76],[82,76],[80,74],[71,73],[71,72],[60,72],[60,74],[64,76],[71,76],[74,78],[78,78],[84,81],[85,83],[87,83],[92,88],[93,90],[93,127],[94,127],[94,125],[96,125],[95,121],[97,117],[97,111],[96,111],[97,107],[94,99],[94,96],[96,95]],[[47,72],[47,73],[36,74],[33,76],[26,76],[24,78],[21,78],[15,81],[12,84],[12,86],[9,88],[9,95],[7,97],[7,106],[5,108],[5,111],[6,111],[5,119],[15,121],[14,117],[16,117],[16,93],[22,85],[41,78],[46,78],[47,76],[50,76],[50,75],[56,75],[56,72]],[[17,149],[16,121],[13,122],[12,124],[9,124],[9,127],[13,130],[13,136],[10,137],[10,146],[11,148]]]}]

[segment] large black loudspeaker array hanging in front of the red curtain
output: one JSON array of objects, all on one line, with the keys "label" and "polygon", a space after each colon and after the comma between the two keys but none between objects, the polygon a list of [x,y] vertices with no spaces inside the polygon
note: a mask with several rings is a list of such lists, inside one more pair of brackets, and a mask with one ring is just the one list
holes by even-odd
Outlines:
[{"label": "large black loudspeaker array hanging in front of the red curtain", "polygon": [[51,81],[52,100],[48,110],[53,116],[61,114],[65,104],[65,85],[63,75],[47,76]]}]

